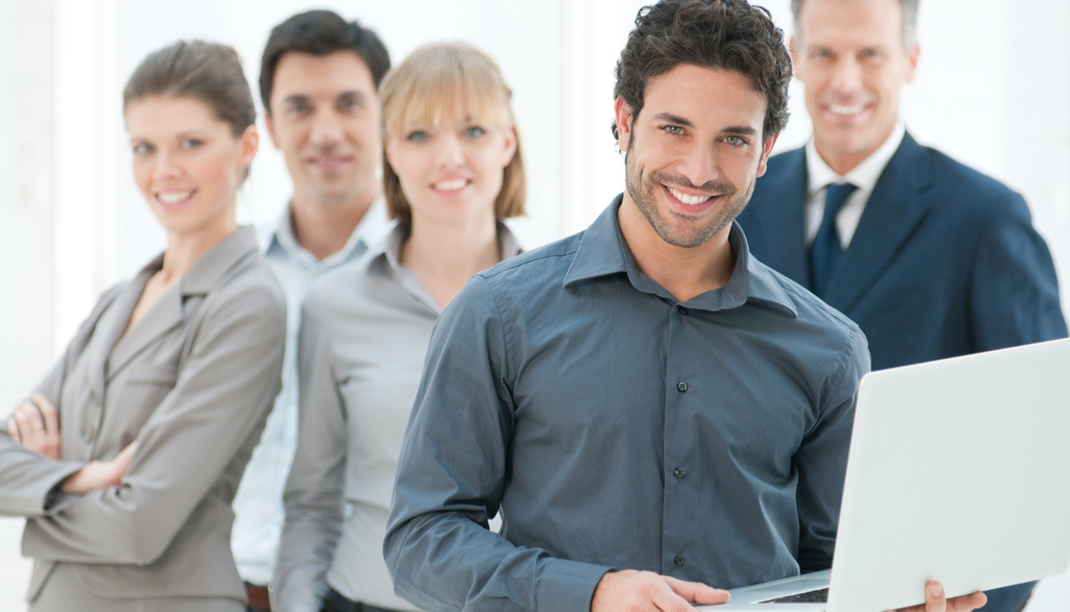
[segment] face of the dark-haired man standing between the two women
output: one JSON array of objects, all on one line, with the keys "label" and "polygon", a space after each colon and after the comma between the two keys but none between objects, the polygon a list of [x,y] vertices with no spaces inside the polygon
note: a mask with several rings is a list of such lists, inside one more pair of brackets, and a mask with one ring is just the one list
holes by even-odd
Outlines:
[{"label": "face of the dark-haired man standing between the two women", "polygon": [[290,51],[275,68],[269,132],[286,157],[294,198],[339,206],[379,189],[379,97],[353,51]]}]

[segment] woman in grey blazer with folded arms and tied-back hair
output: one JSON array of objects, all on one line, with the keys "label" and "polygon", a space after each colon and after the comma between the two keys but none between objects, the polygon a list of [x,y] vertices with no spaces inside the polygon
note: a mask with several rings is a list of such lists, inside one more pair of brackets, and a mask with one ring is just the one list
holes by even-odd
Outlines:
[{"label": "woman in grey blazer with folded arms and tied-back hair", "polygon": [[279,389],[286,303],[239,227],[256,111],[233,49],[175,43],[123,92],[167,248],[107,293],[0,435],[30,610],[240,611],[230,503]]}]

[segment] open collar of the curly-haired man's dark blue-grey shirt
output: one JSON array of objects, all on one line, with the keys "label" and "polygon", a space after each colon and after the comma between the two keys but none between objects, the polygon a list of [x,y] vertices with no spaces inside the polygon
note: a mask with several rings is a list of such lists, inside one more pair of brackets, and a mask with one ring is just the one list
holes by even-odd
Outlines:
[{"label": "open collar of the curly-haired man's dark blue-grey shirt", "polygon": [[[565,273],[564,286],[567,288],[587,279],[624,272],[636,289],[671,299],[669,292],[639,272],[631,252],[624,242],[617,220],[617,210],[623,198],[623,194],[617,195],[583,232],[572,263]],[[732,222],[732,230],[729,233],[729,245],[736,262],[728,284],[691,298],[688,300],[688,305],[716,311],[738,308],[748,300],[754,300],[755,303],[763,303],[790,316],[796,316],[795,304],[774,278],[773,272],[750,255],[747,237],[735,221]]]}]

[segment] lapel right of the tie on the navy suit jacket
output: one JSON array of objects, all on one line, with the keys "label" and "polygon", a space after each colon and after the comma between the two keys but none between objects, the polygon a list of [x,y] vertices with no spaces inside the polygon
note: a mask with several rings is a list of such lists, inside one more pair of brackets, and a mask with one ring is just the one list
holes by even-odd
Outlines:
[{"label": "lapel right of the tie on the navy suit jacket", "polygon": [[932,207],[922,194],[933,184],[924,150],[907,134],[877,179],[851,246],[829,281],[825,301],[847,313],[895,260]]}]

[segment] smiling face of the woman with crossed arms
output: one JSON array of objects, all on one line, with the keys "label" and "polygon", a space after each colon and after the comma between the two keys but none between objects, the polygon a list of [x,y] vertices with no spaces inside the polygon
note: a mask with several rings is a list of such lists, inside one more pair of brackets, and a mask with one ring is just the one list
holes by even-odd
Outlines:
[{"label": "smiling face of the woman with crossed arms", "polygon": [[256,127],[234,137],[203,101],[150,96],[126,108],[134,182],[171,236],[224,232],[257,152]]}]

